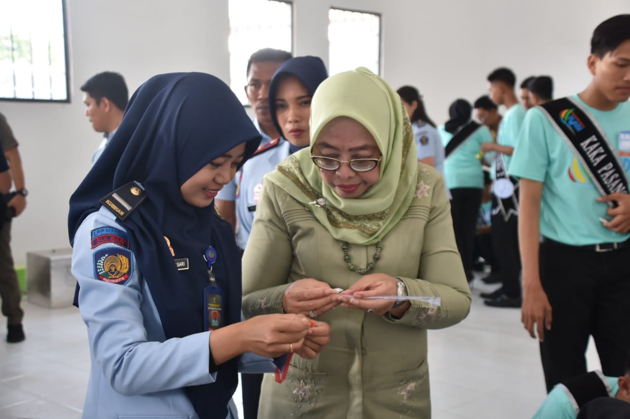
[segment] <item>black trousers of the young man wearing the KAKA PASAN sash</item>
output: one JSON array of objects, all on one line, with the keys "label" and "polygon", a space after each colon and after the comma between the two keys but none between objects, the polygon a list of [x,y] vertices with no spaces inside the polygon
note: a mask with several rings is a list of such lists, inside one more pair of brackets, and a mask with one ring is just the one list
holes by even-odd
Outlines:
[{"label": "black trousers of the young man wearing the KAKA PASAN sash", "polygon": [[590,335],[604,375],[623,376],[630,350],[630,247],[598,253],[541,243],[540,270],[552,310],[551,330],[540,345],[547,391],[587,372]]}]

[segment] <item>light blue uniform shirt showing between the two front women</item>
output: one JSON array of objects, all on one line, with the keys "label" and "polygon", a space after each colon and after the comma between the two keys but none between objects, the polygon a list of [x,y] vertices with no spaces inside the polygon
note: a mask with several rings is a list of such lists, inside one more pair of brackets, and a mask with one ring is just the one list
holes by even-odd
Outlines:
[{"label": "light blue uniform shirt showing between the two front women", "polygon": [[[254,120],[254,125],[260,131],[258,120]],[[261,146],[272,141],[272,138],[265,133],[261,132],[261,135],[263,136]],[[247,160],[234,179],[217,194],[217,199],[236,201],[238,220],[236,244],[241,249],[245,249],[249,240],[251,225],[256,215],[256,205],[263,191],[263,177],[274,170],[278,163],[289,157],[289,146],[290,143],[287,140],[280,138],[280,144]]]}]

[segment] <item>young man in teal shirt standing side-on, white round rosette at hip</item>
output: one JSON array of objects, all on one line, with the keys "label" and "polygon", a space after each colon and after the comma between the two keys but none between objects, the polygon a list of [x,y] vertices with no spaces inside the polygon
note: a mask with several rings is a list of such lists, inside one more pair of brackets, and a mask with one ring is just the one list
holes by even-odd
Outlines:
[{"label": "young man in teal shirt standing side-on, white round rosette at hip", "polygon": [[[498,167],[508,167],[518,140],[520,127],[525,118],[525,108],[518,103],[514,91],[516,76],[510,69],[504,67],[496,69],[488,75],[490,82],[490,99],[507,111],[499,124],[495,142],[485,142],[481,145],[484,153],[495,152],[492,173],[495,177],[492,199],[492,241],[498,261],[498,277],[501,287],[493,293],[483,293],[487,298],[484,304],[493,307],[520,308],[522,293],[520,289],[520,255],[518,251],[518,184],[509,179],[505,170]],[[510,184],[512,181],[512,184]],[[512,192],[501,191],[498,188],[507,183]]]}]

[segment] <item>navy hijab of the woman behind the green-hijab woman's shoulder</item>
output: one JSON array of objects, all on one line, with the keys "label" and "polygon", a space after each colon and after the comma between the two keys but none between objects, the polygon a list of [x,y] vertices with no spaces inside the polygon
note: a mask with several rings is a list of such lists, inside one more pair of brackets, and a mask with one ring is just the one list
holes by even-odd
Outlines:
[{"label": "navy hijab of the woman behind the green-hijab woman's shoulder", "polygon": [[[275,99],[278,89],[280,89],[280,84],[291,75],[297,77],[304,84],[312,97],[319,84],[328,77],[328,72],[321,58],[307,55],[306,57],[294,57],[286,60],[273,74],[272,82],[269,85],[269,111],[272,114],[273,125],[284,138],[287,137],[282,133],[282,127],[278,123]],[[297,150],[292,150],[292,152],[294,151]]]}]

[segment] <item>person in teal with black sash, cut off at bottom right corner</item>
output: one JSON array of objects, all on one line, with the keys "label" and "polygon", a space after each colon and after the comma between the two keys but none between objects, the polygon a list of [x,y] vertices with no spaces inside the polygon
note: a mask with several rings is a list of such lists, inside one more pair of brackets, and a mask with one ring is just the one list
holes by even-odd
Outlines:
[{"label": "person in teal with black sash, cut off at bottom right corner", "polygon": [[557,384],[532,419],[575,419],[589,401],[606,395],[630,403],[630,357],[621,377],[593,371]]}]

